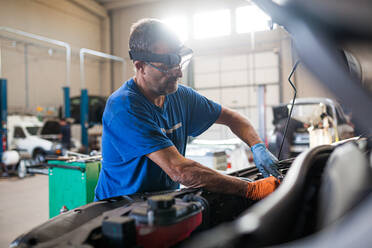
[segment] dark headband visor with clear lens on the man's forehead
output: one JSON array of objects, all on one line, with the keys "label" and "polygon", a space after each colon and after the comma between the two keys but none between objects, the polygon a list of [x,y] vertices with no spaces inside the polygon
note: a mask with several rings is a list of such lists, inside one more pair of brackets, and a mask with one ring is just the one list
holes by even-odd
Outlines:
[{"label": "dark headband visor with clear lens on the man's forehead", "polygon": [[178,53],[166,53],[166,54],[159,54],[159,53],[151,53],[151,52],[137,52],[137,51],[129,51],[129,57],[133,61],[144,61],[144,62],[155,62],[155,63],[163,63],[165,66],[169,68],[173,68],[176,66],[180,66],[181,69],[185,69],[189,64],[191,58],[193,56],[193,51],[191,48],[186,46],[182,46]]}]

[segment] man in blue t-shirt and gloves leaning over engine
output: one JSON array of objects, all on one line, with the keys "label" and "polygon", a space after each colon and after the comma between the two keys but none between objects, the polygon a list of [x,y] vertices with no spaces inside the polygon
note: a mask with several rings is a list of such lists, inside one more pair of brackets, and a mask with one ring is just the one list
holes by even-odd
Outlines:
[{"label": "man in blue t-shirt and gloves leaning over engine", "polygon": [[[278,181],[276,158],[249,121],[189,87],[178,85],[192,51],[158,20],[132,26],[129,47],[135,76],[108,99],[103,114],[102,170],[96,200],[187,187],[261,199]],[[224,124],[252,147],[263,180],[249,183],[184,157],[188,136]]]}]

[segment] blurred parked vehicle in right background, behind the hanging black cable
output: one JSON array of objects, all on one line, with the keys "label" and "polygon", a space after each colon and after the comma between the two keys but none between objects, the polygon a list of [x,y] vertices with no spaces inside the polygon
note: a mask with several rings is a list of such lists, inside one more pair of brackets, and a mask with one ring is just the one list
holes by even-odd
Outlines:
[{"label": "blurred parked vehicle in right background, behind the hanging black cable", "polygon": [[[276,125],[280,120],[288,117],[291,103],[273,107],[273,124]],[[331,142],[336,142],[354,136],[354,128],[347,115],[345,115],[340,104],[329,98],[298,98],[295,100],[291,118],[300,121],[305,126],[299,126],[294,130],[290,152],[297,155],[310,147],[310,135],[312,127],[317,127],[324,119],[329,118],[329,136]],[[284,125],[283,127],[284,128]],[[284,132],[284,131],[283,131]],[[272,131],[269,135],[269,149],[274,154],[278,153],[276,143],[277,132]]]}]

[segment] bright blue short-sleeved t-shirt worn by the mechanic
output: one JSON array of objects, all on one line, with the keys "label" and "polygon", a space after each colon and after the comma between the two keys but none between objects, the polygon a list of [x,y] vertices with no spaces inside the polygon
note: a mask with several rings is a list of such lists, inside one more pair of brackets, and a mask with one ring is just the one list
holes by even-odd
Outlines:
[{"label": "bright blue short-sleeved t-shirt worn by the mechanic", "polygon": [[219,104],[183,85],[159,108],[128,80],[109,97],[103,113],[95,200],[177,189],[179,184],[145,155],[173,145],[185,155],[187,137],[207,130],[220,112]]}]

